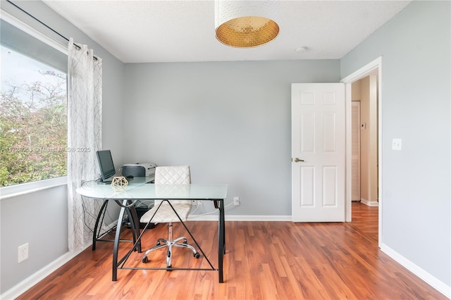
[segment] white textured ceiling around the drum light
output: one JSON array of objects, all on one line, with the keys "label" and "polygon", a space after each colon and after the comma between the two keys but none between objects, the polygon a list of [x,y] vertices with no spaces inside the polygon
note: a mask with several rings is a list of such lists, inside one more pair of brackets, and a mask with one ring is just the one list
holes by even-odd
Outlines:
[{"label": "white textured ceiling around the drum light", "polygon": [[278,1],[278,37],[237,49],[215,37],[214,1],[43,1],[124,63],[338,59],[410,3]]}]

